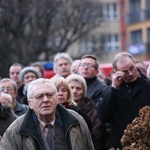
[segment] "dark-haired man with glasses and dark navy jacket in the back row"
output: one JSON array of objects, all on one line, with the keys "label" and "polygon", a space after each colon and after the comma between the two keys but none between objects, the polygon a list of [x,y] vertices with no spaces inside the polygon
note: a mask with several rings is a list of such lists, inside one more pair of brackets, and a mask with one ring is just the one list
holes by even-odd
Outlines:
[{"label": "dark-haired man with glasses and dark navy jacket in the back row", "polygon": [[105,85],[98,79],[99,64],[95,55],[84,55],[78,68],[78,74],[83,76],[87,84],[86,97],[91,98],[95,104],[101,100]]}]

